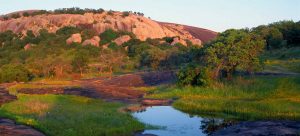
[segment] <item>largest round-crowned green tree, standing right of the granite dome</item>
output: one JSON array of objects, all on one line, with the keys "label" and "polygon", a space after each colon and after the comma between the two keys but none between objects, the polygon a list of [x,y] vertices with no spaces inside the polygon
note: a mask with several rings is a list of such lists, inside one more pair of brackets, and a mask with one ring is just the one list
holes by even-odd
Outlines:
[{"label": "largest round-crowned green tree, standing right of the granite dome", "polygon": [[265,41],[251,32],[227,30],[206,48],[206,63],[214,70],[214,78],[220,76],[220,71],[224,71],[230,80],[237,68],[252,72],[259,66],[258,55],[264,46]]}]

